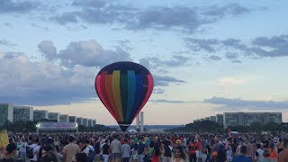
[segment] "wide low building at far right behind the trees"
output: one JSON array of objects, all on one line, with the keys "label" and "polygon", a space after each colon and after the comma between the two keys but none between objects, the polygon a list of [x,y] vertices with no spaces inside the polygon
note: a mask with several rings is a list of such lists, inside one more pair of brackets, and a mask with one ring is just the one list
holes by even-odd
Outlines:
[{"label": "wide low building at far right behind the trees", "polygon": [[269,122],[281,123],[282,112],[224,112],[224,128],[228,126],[250,126],[253,122],[263,125]]}]

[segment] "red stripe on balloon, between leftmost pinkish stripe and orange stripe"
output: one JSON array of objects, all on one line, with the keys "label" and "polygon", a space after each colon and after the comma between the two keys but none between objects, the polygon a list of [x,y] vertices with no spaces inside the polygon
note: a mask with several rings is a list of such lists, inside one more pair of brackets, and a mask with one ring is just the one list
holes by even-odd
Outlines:
[{"label": "red stripe on balloon, between leftmost pinkish stripe and orange stripe", "polygon": [[106,71],[103,71],[103,73],[102,73],[102,76],[101,76],[101,79],[100,79],[100,88],[99,89],[101,89],[101,91],[102,91],[102,99],[103,99],[103,101],[104,101],[104,103],[106,103],[106,104],[104,104],[105,105],[105,107],[107,108],[107,110],[112,114],[112,116],[114,117],[114,119],[117,121],[117,113],[115,113],[114,111],[113,111],[113,107],[112,107],[112,104],[109,102],[109,95],[107,94],[107,89],[106,89],[106,86],[105,86],[105,84],[106,84],[106,77],[107,77],[107,72]]}]

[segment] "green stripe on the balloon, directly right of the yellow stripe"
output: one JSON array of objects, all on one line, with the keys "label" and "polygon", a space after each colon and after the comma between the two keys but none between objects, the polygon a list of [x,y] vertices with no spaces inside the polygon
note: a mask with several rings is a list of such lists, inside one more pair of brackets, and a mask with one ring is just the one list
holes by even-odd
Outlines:
[{"label": "green stripe on the balloon, directly right of the yellow stripe", "polygon": [[121,92],[123,120],[127,121],[127,95],[128,95],[127,74],[122,73],[120,76],[120,92]]}]

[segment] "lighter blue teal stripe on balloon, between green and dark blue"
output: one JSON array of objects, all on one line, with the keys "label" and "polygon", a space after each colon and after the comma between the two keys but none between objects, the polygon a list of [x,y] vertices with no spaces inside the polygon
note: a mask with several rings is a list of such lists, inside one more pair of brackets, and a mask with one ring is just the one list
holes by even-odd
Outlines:
[{"label": "lighter blue teal stripe on balloon, between green and dark blue", "polygon": [[136,92],[136,77],[135,72],[132,70],[127,71],[128,75],[128,100],[127,100],[127,121],[130,120],[130,114],[132,111],[134,99],[135,99],[135,92]]}]

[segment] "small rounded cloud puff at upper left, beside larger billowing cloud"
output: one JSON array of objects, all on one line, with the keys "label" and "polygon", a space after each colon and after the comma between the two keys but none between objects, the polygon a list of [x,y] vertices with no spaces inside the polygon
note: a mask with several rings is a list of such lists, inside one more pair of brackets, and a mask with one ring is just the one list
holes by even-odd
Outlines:
[{"label": "small rounded cloud puff at upper left, beside larger billowing cloud", "polygon": [[40,49],[40,52],[44,54],[45,58],[49,60],[57,58],[57,49],[52,43],[52,41],[42,41],[40,42],[40,44],[38,44],[38,48]]}]

